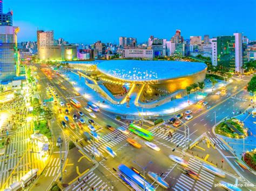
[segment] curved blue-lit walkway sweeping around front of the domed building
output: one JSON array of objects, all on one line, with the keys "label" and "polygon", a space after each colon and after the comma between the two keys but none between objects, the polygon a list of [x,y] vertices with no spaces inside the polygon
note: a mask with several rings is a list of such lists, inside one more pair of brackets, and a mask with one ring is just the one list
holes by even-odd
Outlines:
[{"label": "curved blue-lit walkway sweeping around front of the domed building", "polygon": [[[113,112],[116,114],[121,114],[121,115],[126,115],[127,118],[131,116],[138,116],[138,112],[143,113],[143,115],[150,115],[150,116],[161,116],[161,115],[167,115],[171,114],[173,112],[179,111],[181,109],[184,109],[188,106],[188,101],[187,101],[187,96],[176,99],[174,101],[165,103],[163,105],[159,105],[156,108],[138,108],[136,105],[132,103],[132,100],[130,102],[130,107],[126,107],[126,103],[122,105],[116,105],[112,104],[109,101],[105,100],[105,98],[101,95],[99,95],[95,90],[91,89],[90,87],[86,86],[85,84],[85,79],[84,77],[79,77],[77,74],[74,74],[72,72],[65,72],[63,75],[66,80],[70,81],[73,86],[77,89],[77,91],[83,95],[87,100],[90,100],[93,103],[96,103],[97,105],[100,106],[100,108]],[[226,82],[223,81],[218,81],[217,84],[215,84],[215,89],[223,86],[223,84]],[[211,88],[211,82],[207,82],[206,86],[204,88],[204,91],[206,93],[211,93],[212,88]],[[203,96],[199,96],[196,94],[190,94],[190,104],[196,103],[199,100],[203,99]],[[105,101],[105,103],[103,103]],[[161,115],[159,115],[161,114]]]}]

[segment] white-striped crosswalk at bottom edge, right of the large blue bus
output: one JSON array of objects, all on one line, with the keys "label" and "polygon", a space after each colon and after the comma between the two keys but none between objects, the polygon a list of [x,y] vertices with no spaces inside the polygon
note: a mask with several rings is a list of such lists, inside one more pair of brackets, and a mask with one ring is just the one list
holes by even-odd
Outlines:
[{"label": "white-striped crosswalk at bottom edge, right of the large blue bus", "polygon": [[182,173],[173,187],[174,190],[212,190],[215,176],[205,171],[205,169],[201,167],[201,162],[190,158],[188,161],[188,168],[198,173],[199,179],[193,179]]}]

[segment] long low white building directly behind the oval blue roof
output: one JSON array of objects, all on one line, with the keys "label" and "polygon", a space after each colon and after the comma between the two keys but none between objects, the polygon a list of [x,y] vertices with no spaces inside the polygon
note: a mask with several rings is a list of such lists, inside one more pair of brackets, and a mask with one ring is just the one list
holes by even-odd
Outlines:
[{"label": "long low white building directly behind the oval blue roof", "polygon": [[123,49],[123,58],[146,58],[153,59],[152,49],[125,48]]}]

